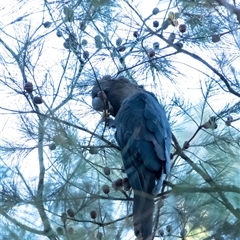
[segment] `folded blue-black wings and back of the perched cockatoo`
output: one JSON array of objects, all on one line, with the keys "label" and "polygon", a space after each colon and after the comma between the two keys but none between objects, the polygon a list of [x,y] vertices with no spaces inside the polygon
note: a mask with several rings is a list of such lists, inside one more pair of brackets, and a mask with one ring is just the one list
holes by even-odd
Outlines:
[{"label": "folded blue-black wings and back of the perched cockatoo", "polygon": [[131,166],[136,161],[132,156],[136,156],[150,171],[162,172],[164,168],[165,173],[169,172],[171,130],[165,111],[153,94],[139,92],[126,99],[115,125],[124,164],[126,159],[132,159],[126,163]]}]

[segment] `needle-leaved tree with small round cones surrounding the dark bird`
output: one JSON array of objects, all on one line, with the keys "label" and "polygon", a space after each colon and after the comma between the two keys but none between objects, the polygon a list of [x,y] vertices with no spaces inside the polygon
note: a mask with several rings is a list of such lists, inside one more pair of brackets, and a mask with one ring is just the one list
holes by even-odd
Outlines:
[{"label": "needle-leaved tree with small round cones surrounding the dark bird", "polygon": [[[146,1],[147,2],[147,1]],[[26,1],[0,8],[2,239],[134,239],[103,75],[156,94],[173,132],[154,239],[238,239],[237,1]]]}]

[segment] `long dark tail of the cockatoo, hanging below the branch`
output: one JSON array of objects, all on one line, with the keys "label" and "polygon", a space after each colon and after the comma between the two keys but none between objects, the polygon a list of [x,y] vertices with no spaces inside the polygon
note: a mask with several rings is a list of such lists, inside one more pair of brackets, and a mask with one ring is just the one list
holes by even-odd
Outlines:
[{"label": "long dark tail of the cockatoo, hanging below the branch", "polygon": [[133,224],[138,240],[152,239],[154,199],[153,195],[134,191]]}]

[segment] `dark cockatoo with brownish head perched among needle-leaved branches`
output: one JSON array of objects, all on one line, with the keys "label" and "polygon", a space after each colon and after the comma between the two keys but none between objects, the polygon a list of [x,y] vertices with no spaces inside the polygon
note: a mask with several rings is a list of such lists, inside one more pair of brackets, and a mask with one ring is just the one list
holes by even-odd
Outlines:
[{"label": "dark cockatoo with brownish head perched among needle-leaved branches", "polygon": [[165,111],[154,94],[125,77],[96,82],[92,105],[115,117],[115,138],[134,191],[134,232],[139,240],[150,240],[154,194],[170,171],[171,130]]}]

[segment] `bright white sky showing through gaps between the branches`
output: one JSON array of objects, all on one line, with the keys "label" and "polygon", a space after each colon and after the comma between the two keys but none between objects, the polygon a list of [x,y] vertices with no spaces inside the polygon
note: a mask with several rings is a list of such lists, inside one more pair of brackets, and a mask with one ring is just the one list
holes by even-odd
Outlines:
[{"label": "bright white sky showing through gaps between the branches", "polygon": [[[7,0],[1,3],[0,6],[0,11],[1,13],[3,12],[2,9],[4,9],[5,11],[5,15],[1,18],[1,25],[0,28],[2,29],[3,32],[7,32],[9,35],[11,36],[17,36],[22,34],[21,32],[15,32],[14,30],[14,24],[10,24],[13,21],[16,21],[16,19],[18,19],[19,17],[25,15],[26,13],[28,14],[29,12],[32,12],[33,14],[26,16],[26,18],[24,18],[22,20],[23,23],[28,22],[29,19],[31,19],[31,27],[34,29],[37,26],[39,26],[42,23],[42,18],[43,18],[43,14],[42,14],[42,6],[40,6],[39,8],[36,7],[35,3],[42,3],[41,1],[26,1],[26,3],[24,3],[25,5],[23,6],[23,8],[19,11],[19,8],[17,5],[15,5],[15,1],[13,0]],[[134,1],[134,3],[136,3],[137,1]],[[158,1],[139,1],[140,4],[138,5],[138,9],[139,12],[141,13],[141,15],[143,17],[147,17],[152,9],[154,7],[157,6]],[[168,4],[168,1],[165,1],[166,6]],[[137,5],[137,4],[136,4]],[[163,7],[164,5],[161,4],[161,7]],[[45,19],[48,20],[48,15],[46,14]],[[26,21],[25,21],[26,19]],[[5,35],[5,33],[3,33],[2,31],[0,31],[0,38],[3,38],[4,40],[6,40],[6,38],[9,38],[9,42],[14,42],[15,39],[11,39],[11,37],[8,37]],[[42,29],[42,31],[46,31],[46,29]],[[124,31],[123,31],[124,32]],[[45,74],[45,69],[44,67],[47,66],[51,66],[51,73],[54,76],[54,78],[59,79],[60,78],[60,72],[59,67],[61,65],[61,63],[59,62],[59,59],[64,59],[67,56],[67,51],[62,51],[63,49],[63,42],[64,39],[63,38],[58,38],[56,37],[55,34],[52,34],[50,37],[48,37],[48,41],[46,42],[45,46],[46,49],[44,49],[44,53],[47,52],[47,54],[45,54],[45,57],[43,59],[40,60],[39,65],[38,65],[38,73],[39,75],[36,76],[36,78],[44,78],[44,74]],[[15,46],[16,44],[14,44]],[[185,46],[186,49],[190,49],[191,47],[189,46]],[[196,48],[198,49],[198,48]],[[192,48],[190,49],[192,50]],[[194,49],[193,49],[194,50]],[[205,57],[207,57],[208,53],[205,52],[199,52],[199,55],[204,55]],[[37,55],[34,56],[35,59],[37,59]],[[56,64],[59,63],[59,64]],[[190,60],[190,58],[184,56],[183,54],[178,54],[175,58],[175,64],[176,66],[181,67],[181,69],[186,69],[186,74],[185,76],[180,76],[181,78],[181,85],[173,86],[172,84],[169,83],[169,89],[168,89],[168,93],[166,92],[161,92],[163,95],[167,95],[169,96],[173,91],[179,91],[180,93],[184,94],[184,98],[186,99],[186,101],[191,102],[192,104],[201,104],[202,103],[202,92],[200,89],[201,84],[203,84],[203,88],[204,88],[204,82],[206,81],[206,76],[204,76],[202,73],[186,67],[186,65],[193,65],[193,60]],[[185,65],[186,64],[186,65]],[[99,63],[99,68],[102,67],[101,63]],[[194,61],[194,67],[196,69],[201,69],[204,73],[209,73],[210,71],[202,68],[202,65],[197,62]],[[103,67],[104,69],[104,67]],[[42,70],[42,72],[41,72]],[[14,70],[13,70],[14,71]],[[0,74],[4,75],[7,74],[6,70],[0,65]],[[102,71],[102,74],[104,74],[104,71]],[[113,73],[114,74],[114,73]],[[14,74],[16,75],[16,77],[19,76],[19,73]],[[166,79],[163,79],[163,81],[166,81]],[[19,86],[21,86],[22,84],[22,80],[21,78],[19,78]],[[141,82],[142,84],[142,82]],[[146,85],[146,89],[150,90],[150,91],[154,91],[154,89],[152,88],[152,86],[149,86],[148,82],[144,83]],[[167,84],[167,82],[166,82]],[[226,94],[227,95],[227,94]],[[0,101],[1,101],[1,105],[3,105],[4,102],[4,106],[5,107],[9,107],[9,108],[13,108],[13,109],[20,109],[22,101],[26,101],[25,99],[18,99],[17,101],[13,101],[13,99],[9,98],[3,98],[3,94],[0,95]],[[234,97],[229,97],[228,95],[228,99],[225,98],[224,94],[221,94],[218,98],[216,97],[215,101],[211,102],[211,105],[213,106],[215,111],[221,110],[222,105],[226,102],[231,102],[233,100],[235,100]],[[90,103],[91,99],[90,96],[87,99],[87,101]],[[75,109],[75,107],[73,107],[73,109]],[[1,112],[3,110],[0,110]],[[210,110],[209,110],[210,111]],[[208,112],[206,113],[206,118],[208,118]],[[207,120],[207,119],[206,119]],[[16,119],[14,120],[16,121]],[[0,133],[1,133],[1,139],[3,138],[8,138],[8,139],[14,139],[17,140],[18,136],[16,135],[15,130],[12,131],[12,129],[15,127],[13,127],[14,122],[11,120],[11,115],[2,115],[1,116],[1,120],[0,120]],[[96,124],[96,121],[94,121],[94,124]],[[240,128],[239,123],[237,123],[238,128]],[[190,127],[188,126],[186,128],[185,131],[185,136],[191,136],[192,132],[195,129],[195,124],[192,124]],[[37,160],[37,151],[34,150],[32,151],[25,159],[24,162],[21,163],[21,171],[23,171],[24,175],[27,172],[27,175],[29,177],[29,179],[32,179],[32,184],[34,185],[35,182],[35,178],[38,178],[38,173],[39,173],[39,169],[38,167],[38,160]],[[48,153],[49,154],[49,153]],[[26,172],[25,172],[26,171]],[[132,235],[132,232],[129,233],[130,235]],[[39,239],[43,239],[42,237]]]}]

